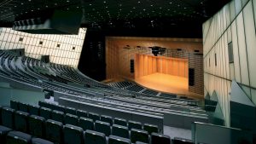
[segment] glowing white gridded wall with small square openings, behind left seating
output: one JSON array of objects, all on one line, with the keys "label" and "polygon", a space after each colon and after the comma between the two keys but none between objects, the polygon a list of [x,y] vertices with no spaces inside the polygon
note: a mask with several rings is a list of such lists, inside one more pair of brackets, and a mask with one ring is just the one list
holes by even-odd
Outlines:
[{"label": "glowing white gridded wall with small square openings, behind left seating", "polygon": [[[41,55],[49,55],[51,62],[77,67],[85,33],[85,28],[80,28],[78,35],[53,35],[30,34],[0,27],[0,49],[25,49],[26,56],[41,59]],[[19,41],[20,38],[23,40]],[[39,44],[40,41],[43,44]],[[60,47],[57,47],[58,44]]]}]

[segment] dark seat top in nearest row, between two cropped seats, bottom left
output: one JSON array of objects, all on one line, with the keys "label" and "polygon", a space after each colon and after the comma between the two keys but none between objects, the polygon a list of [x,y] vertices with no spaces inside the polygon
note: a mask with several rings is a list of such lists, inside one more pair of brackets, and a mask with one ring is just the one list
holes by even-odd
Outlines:
[{"label": "dark seat top in nearest row, between two cropped seats, bottom left", "polygon": [[7,144],[28,144],[32,139],[31,135],[20,131],[10,131],[6,137]]}]

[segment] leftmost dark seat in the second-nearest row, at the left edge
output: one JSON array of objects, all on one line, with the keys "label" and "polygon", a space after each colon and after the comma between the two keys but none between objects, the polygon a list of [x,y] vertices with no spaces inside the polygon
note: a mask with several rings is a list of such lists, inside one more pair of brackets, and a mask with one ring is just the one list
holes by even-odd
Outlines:
[{"label": "leftmost dark seat in the second-nearest row, at the left edge", "polygon": [[15,128],[14,126],[15,109],[10,107],[2,108],[2,125],[9,127],[10,129]]}]

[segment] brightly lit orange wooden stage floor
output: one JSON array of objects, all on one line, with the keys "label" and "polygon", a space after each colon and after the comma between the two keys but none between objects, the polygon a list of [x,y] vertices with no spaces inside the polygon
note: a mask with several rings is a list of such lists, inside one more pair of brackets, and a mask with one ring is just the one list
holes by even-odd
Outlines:
[{"label": "brightly lit orange wooden stage floor", "polygon": [[154,73],[134,80],[137,84],[148,89],[161,92],[187,95],[189,97],[201,98],[201,95],[189,93],[189,78],[177,77],[162,73]]}]

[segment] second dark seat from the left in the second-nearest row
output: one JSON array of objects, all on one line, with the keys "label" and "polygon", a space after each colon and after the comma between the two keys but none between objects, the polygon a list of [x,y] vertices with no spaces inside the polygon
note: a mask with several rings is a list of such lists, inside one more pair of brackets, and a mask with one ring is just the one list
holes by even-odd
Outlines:
[{"label": "second dark seat from the left in the second-nearest row", "polygon": [[28,132],[28,112],[15,112],[15,130]]}]

